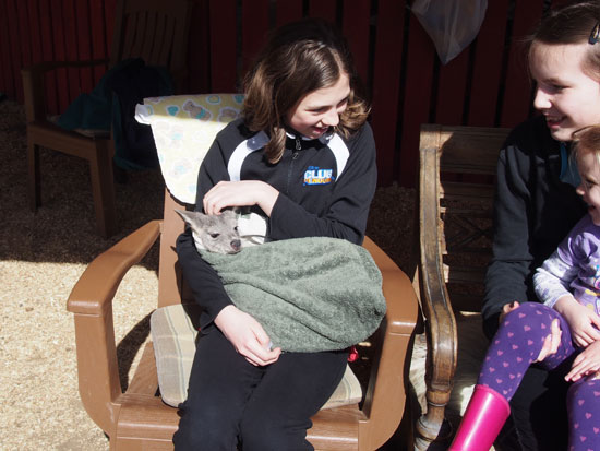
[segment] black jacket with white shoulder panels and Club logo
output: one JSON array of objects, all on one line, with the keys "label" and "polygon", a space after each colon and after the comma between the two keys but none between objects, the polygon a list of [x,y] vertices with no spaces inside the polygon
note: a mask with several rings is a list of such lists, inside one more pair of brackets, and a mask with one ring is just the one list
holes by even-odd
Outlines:
[{"label": "black jacket with white shoulder panels and Club logo", "polygon": [[[199,173],[196,210],[220,180],[262,180],[279,191],[268,222],[272,240],[325,236],[360,245],[376,187],[375,145],[365,123],[349,140],[337,134],[305,140],[288,134],[281,161],[269,164],[262,152],[264,132],[252,133],[238,119],[216,138]],[[231,300],[216,272],[197,253],[190,230],[177,253],[194,299],[203,307],[201,328]]]}]

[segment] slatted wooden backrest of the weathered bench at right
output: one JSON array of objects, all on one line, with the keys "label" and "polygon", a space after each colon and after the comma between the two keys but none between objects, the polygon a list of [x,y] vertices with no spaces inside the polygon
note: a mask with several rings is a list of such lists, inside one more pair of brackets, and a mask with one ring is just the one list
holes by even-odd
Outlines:
[{"label": "slatted wooden backrest of the weathered bench at right", "polygon": [[421,127],[420,261],[443,269],[445,302],[452,300],[455,311],[481,310],[497,156],[507,133],[500,128]]}]

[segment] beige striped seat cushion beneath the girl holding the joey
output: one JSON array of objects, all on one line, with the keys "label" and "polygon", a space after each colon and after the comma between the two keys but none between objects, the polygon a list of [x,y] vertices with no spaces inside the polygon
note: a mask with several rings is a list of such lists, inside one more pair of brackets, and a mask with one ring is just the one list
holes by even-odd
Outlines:
[{"label": "beige striped seat cushion beneath the girl holding the joey", "polygon": [[[185,401],[195,353],[199,317],[196,305],[161,307],[151,316],[158,385],[163,401],[173,407]],[[193,319],[193,320],[192,320]],[[341,382],[322,408],[359,403],[362,388],[349,366]]]}]

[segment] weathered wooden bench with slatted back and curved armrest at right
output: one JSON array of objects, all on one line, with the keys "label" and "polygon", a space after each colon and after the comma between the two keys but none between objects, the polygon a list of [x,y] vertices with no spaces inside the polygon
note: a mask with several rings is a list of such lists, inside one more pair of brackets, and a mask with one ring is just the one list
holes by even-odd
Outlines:
[{"label": "weathered wooden bench with slatted back and curved armrest at right", "polygon": [[507,133],[497,128],[421,127],[418,285],[428,355],[427,412],[416,425],[418,450],[446,449],[452,439],[444,411],[457,363],[456,319],[481,311],[497,156]]}]

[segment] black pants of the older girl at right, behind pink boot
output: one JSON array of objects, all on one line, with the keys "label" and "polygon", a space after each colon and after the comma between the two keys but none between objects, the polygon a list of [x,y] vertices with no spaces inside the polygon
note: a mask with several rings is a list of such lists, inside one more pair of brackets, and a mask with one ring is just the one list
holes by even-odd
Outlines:
[{"label": "black pants of the older girl at right, behind pink boot", "polygon": [[511,400],[511,417],[496,448],[501,451],[564,451],[568,423],[564,371],[530,367]]}]

